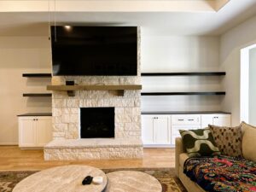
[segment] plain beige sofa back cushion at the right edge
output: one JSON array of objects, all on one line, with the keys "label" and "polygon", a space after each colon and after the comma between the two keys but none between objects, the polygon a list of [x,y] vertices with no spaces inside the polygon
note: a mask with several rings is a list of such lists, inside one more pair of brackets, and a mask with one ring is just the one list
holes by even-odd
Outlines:
[{"label": "plain beige sofa back cushion at the right edge", "polygon": [[252,125],[242,123],[244,134],[242,137],[242,154],[247,160],[256,162],[256,128]]}]

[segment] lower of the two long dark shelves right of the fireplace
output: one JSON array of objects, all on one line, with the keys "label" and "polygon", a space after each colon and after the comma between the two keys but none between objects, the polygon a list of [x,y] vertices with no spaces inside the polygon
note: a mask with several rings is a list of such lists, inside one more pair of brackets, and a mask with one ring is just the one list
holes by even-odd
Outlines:
[{"label": "lower of the two long dark shelves right of the fireplace", "polygon": [[224,91],[211,92],[143,92],[142,96],[223,96]]}]

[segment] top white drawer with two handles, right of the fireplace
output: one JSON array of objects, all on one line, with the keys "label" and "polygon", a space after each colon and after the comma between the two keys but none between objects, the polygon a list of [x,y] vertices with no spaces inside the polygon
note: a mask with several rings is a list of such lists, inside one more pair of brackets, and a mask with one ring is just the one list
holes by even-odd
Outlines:
[{"label": "top white drawer with two handles, right of the fireplace", "polygon": [[201,115],[172,115],[172,125],[201,125]]}]

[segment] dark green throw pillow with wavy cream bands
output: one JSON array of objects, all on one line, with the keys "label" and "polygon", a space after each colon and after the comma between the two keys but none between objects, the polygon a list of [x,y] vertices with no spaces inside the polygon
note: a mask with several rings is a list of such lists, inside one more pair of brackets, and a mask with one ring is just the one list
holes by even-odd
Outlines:
[{"label": "dark green throw pillow with wavy cream bands", "polygon": [[183,145],[189,157],[220,154],[209,128],[199,130],[180,130]]}]

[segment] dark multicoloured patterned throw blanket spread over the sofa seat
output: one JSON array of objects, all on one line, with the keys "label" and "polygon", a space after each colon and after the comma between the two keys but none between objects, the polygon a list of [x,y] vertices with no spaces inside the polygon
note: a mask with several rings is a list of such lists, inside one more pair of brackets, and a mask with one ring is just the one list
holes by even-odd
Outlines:
[{"label": "dark multicoloured patterned throw blanket spread over the sofa seat", "polygon": [[183,172],[206,191],[253,192],[256,189],[255,167],[256,162],[250,160],[218,155],[189,158]]}]

